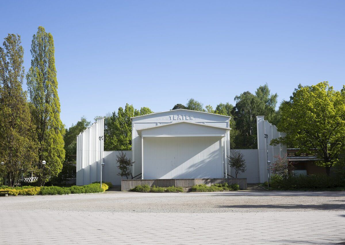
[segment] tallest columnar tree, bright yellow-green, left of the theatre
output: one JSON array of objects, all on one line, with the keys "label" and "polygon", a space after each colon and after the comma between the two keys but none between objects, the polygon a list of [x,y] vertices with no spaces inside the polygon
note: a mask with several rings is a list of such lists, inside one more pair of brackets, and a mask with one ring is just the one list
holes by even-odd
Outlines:
[{"label": "tallest columnar tree, bright yellow-green, left of the theatre", "polygon": [[[43,27],[38,27],[37,34],[33,35],[30,51],[32,60],[27,85],[39,142],[36,175],[42,185],[62,169],[62,162],[65,160],[65,128],[60,120],[53,36]],[[45,166],[41,164],[43,160],[47,162]]]}]

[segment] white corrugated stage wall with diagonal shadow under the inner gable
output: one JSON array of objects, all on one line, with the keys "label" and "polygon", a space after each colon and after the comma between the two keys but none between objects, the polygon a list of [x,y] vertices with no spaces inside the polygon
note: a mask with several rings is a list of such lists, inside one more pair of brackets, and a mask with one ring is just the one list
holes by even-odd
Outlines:
[{"label": "white corrugated stage wall with diagonal shadow under the inner gable", "polygon": [[144,179],[223,178],[221,137],[144,137]]}]

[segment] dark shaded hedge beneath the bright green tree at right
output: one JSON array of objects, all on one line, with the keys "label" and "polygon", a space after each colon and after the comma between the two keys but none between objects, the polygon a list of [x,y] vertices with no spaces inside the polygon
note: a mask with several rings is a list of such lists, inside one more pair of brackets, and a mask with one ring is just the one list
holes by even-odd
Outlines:
[{"label": "dark shaded hedge beneath the bright green tree at right", "polygon": [[326,175],[299,175],[283,178],[278,174],[270,177],[270,189],[273,190],[321,190],[345,188],[345,178]]}]

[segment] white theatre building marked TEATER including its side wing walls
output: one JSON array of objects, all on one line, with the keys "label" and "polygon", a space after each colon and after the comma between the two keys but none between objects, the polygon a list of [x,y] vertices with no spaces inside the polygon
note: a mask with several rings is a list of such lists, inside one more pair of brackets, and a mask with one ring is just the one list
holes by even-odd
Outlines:
[{"label": "white theatre building marked TEATER including its side wing walls", "polygon": [[[132,151],[124,151],[134,161],[135,179],[219,179],[232,178],[227,164],[230,152],[230,117],[185,109],[132,117]],[[267,179],[267,160],[286,153],[286,147],[272,147],[272,138],[283,136],[274,125],[257,117],[258,149],[238,150],[247,164],[240,178],[248,183]],[[77,136],[77,185],[100,180],[100,162],[105,163],[103,180],[121,184],[117,175],[118,151],[103,151],[103,118]],[[268,134],[269,155],[266,139]]]}]

